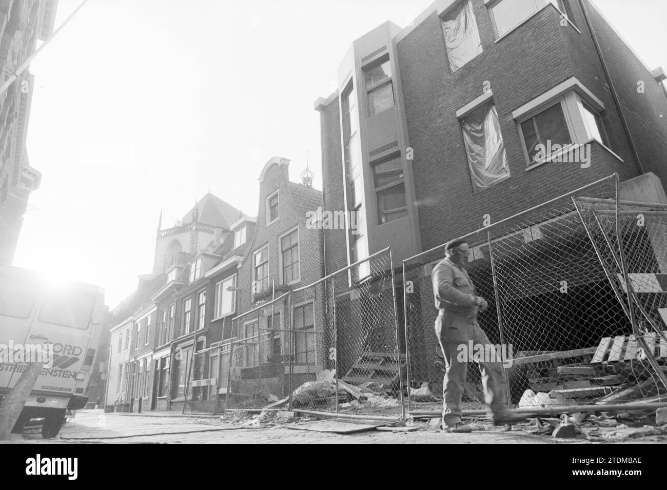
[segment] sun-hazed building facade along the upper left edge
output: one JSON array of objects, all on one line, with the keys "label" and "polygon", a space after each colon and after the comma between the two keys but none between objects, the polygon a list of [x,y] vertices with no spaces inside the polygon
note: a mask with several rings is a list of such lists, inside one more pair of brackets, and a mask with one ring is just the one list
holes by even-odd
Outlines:
[{"label": "sun-hazed building facade along the upper left edge", "polygon": [[[0,85],[53,32],[57,0],[0,1]],[[35,77],[23,71],[0,94],[0,263],[11,263],[30,193],[41,173],[30,166],[26,139]]]}]

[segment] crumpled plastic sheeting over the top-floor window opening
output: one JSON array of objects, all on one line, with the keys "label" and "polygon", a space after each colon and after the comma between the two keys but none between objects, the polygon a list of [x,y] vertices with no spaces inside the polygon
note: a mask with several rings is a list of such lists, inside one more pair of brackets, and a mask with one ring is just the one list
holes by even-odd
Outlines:
[{"label": "crumpled plastic sheeting over the top-floor window opening", "polygon": [[442,18],[442,30],[452,73],[482,53],[480,33],[470,1],[464,1]]}]

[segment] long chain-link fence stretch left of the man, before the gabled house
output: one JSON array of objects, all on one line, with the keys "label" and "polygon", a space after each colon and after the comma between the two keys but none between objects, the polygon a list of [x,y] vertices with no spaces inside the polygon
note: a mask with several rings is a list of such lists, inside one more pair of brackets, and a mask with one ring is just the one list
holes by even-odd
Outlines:
[{"label": "long chain-link fence stretch left of the man, before the gabled house", "polygon": [[235,317],[225,408],[403,417],[392,264],[385,249]]}]

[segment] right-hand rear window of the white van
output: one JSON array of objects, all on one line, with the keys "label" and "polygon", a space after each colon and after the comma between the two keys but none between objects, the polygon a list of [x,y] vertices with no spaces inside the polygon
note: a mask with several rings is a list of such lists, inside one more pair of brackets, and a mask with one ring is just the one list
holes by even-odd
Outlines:
[{"label": "right-hand rear window of the white van", "polygon": [[85,330],[90,325],[93,307],[93,295],[71,290],[51,292],[39,312],[39,321]]}]

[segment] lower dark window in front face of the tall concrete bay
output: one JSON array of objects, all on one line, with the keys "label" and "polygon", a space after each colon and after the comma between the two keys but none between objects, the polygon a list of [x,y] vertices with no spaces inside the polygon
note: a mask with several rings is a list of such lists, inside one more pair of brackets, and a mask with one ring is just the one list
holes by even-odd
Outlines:
[{"label": "lower dark window in front face of the tall concrete bay", "polygon": [[400,155],[373,165],[373,184],[378,199],[378,223],[408,215]]}]

